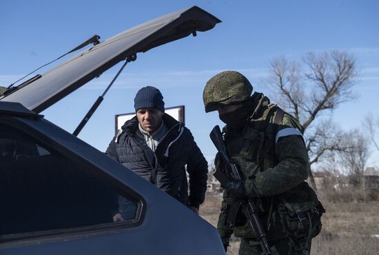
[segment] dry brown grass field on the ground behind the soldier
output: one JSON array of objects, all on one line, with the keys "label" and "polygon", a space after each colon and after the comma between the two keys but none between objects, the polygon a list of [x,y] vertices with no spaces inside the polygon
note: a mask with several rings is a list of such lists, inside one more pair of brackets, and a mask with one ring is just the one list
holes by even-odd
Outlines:
[{"label": "dry brown grass field on the ground behind the soldier", "polygon": [[[311,254],[379,254],[379,202],[325,202],[322,232],[312,241]],[[221,196],[207,194],[201,216],[216,226]],[[374,235],[378,235],[376,238]],[[232,238],[228,255],[238,254],[238,238]]]}]

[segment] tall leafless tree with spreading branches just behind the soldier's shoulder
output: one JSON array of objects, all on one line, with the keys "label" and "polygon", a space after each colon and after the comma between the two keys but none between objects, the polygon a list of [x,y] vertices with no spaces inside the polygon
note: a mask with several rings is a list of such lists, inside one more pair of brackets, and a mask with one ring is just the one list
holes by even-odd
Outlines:
[{"label": "tall leafless tree with spreading branches just behind the soldier's shoulder", "polygon": [[[303,65],[285,57],[271,62],[264,85],[274,100],[303,125],[311,164],[328,152],[344,150],[338,143],[336,125],[320,116],[356,98],[351,90],[356,76],[356,60],[347,52],[308,53]],[[311,173],[310,177],[316,188]]]}]

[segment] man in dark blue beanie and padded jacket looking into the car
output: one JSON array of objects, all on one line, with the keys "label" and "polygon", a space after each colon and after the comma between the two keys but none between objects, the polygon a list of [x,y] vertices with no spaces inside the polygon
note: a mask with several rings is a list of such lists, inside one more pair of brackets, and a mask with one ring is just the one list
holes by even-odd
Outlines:
[{"label": "man in dark blue beanie and padded jacket looking into the car", "polygon": [[[141,88],[134,98],[134,109],[136,116],[125,122],[106,153],[198,214],[207,190],[208,164],[191,132],[165,114],[163,96],[157,88]],[[124,205],[114,221],[130,219],[135,206],[125,210],[127,201],[119,203]]]}]

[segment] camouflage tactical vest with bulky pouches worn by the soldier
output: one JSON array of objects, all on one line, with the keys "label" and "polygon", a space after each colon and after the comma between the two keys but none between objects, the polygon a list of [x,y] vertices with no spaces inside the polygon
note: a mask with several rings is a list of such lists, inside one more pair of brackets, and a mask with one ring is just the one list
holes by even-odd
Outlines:
[{"label": "camouflage tactical vest with bulky pouches worn by the soldier", "polygon": [[[252,179],[258,172],[277,165],[275,137],[283,115],[276,105],[267,105],[260,118],[250,119],[243,129],[223,130],[229,156],[240,167],[244,179]],[[269,240],[287,236],[308,240],[320,232],[320,216],[325,210],[306,182],[282,194],[258,198],[256,204]],[[254,238],[238,203],[229,204],[222,211],[225,224],[235,236]]]}]

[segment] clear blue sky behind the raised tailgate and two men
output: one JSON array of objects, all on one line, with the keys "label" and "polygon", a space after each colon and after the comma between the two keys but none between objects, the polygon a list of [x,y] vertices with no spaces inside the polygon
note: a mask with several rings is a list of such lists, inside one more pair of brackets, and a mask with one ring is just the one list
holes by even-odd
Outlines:
[{"label": "clear blue sky behind the raised tailgate and two men", "polygon": [[[208,32],[198,32],[197,37],[139,54],[106,94],[79,138],[104,151],[114,135],[114,115],[133,112],[136,91],[153,85],[163,93],[167,107],[185,105],[187,127],[206,158],[213,159],[216,150],[209,131],[222,123],[216,113],[203,110],[206,81],[222,70],[238,70],[254,90],[265,92],[259,82],[267,75],[269,61],[280,56],[298,60],[310,51],[346,50],[356,56],[360,77],[354,92],[360,96],[333,114],[344,130],[361,128],[367,112],[379,115],[379,1],[3,0],[0,85],[16,81],[93,34],[104,40],[194,5],[223,22]],[[45,118],[73,132],[120,67],[121,63],[52,105],[43,112]],[[376,158],[371,156],[371,165],[379,165]]]}]

